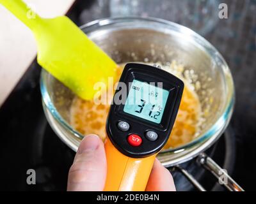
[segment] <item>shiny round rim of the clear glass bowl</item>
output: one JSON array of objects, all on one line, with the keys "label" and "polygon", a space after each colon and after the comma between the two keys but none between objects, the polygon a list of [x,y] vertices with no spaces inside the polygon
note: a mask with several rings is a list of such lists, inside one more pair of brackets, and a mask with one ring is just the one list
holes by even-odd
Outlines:
[{"label": "shiny round rim of the clear glass bowl", "polygon": [[[229,77],[228,82],[230,83],[230,86],[229,86],[230,96],[228,96],[227,100],[225,101],[225,105],[223,108],[223,112],[221,113],[221,117],[219,117],[218,120],[216,120],[214,122],[214,124],[212,124],[211,128],[209,128],[207,131],[205,131],[205,133],[202,134],[202,136],[198,136],[191,142],[188,142],[184,145],[180,145],[179,147],[175,147],[173,149],[162,150],[160,152],[160,154],[170,153],[170,152],[181,152],[186,149],[191,149],[191,148],[195,147],[195,145],[197,145],[198,143],[204,143],[207,139],[214,136],[214,133],[223,132],[223,129],[227,128],[227,124],[228,124],[230,117],[232,115],[232,112],[234,110],[234,103],[235,103],[234,81],[233,81],[230,69],[228,68],[228,64],[225,61],[225,59],[223,58],[223,56],[204,37],[200,36],[199,34],[195,33],[195,31],[192,31],[191,29],[189,29],[188,27],[185,27],[183,25],[176,24],[176,23],[170,22],[168,20],[163,20],[161,18],[153,18],[153,17],[144,18],[144,17],[131,16],[131,17],[102,18],[99,20],[94,20],[92,22],[89,22],[88,24],[84,24],[80,28],[81,28],[81,30],[85,31],[85,33],[86,33],[86,32],[91,32],[94,29],[94,27],[99,28],[102,25],[125,23],[125,22],[131,22],[132,20],[139,21],[139,22],[151,22],[151,23],[155,22],[158,24],[175,27],[177,29],[177,31],[181,30],[184,32],[182,34],[187,34],[187,35],[189,35],[189,37],[193,38],[193,40],[196,40],[196,43],[198,43],[198,41],[204,42],[204,46],[202,48],[204,48],[204,50],[207,52],[207,54],[209,54],[211,59],[214,59],[214,57],[218,58],[218,60],[222,64],[222,71],[224,72],[224,74],[223,74],[224,77],[227,77],[227,75]],[[200,45],[200,43],[198,45]],[[200,46],[202,46],[202,45],[200,45]],[[214,56],[212,56],[211,54]],[[70,133],[74,134],[79,139],[83,139],[84,135],[79,133],[78,131],[76,131],[76,129],[73,129],[68,124],[68,122],[65,119],[63,119],[63,117],[61,117],[60,113],[58,112],[58,110],[56,110],[55,106],[53,105],[51,98],[49,96],[49,93],[47,92],[47,88],[44,84],[46,75],[47,75],[47,71],[42,69],[41,76],[40,76],[40,90],[42,93],[43,101],[44,101],[45,105],[47,106],[47,109],[51,112],[51,114],[54,116],[54,118],[56,120],[60,121],[60,123],[68,131],[70,131]],[[225,83],[227,83],[227,82],[225,82]],[[218,135],[216,135],[216,140],[218,139],[219,136],[220,136],[220,133]],[[216,140],[214,140],[214,141],[216,141]]]}]

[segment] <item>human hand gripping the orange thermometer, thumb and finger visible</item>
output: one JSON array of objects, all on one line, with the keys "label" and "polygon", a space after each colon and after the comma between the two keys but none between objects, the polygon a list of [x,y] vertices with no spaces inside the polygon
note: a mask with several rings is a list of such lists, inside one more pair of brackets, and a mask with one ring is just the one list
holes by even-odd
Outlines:
[{"label": "human hand gripping the orange thermometer, thumb and finger visible", "polygon": [[[68,173],[68,191],[103,191],[107,173],[104,143],[97,135],[88,135],[79,145]],[[175,191],[170,171],[156,159],[146,191]]]}]

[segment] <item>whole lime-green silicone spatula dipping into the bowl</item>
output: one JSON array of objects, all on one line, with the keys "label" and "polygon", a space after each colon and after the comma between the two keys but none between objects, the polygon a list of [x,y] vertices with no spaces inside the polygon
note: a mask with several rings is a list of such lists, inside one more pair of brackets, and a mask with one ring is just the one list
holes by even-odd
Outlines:
[{"label": "whole lime-green silicone spatula dipping into the bowl", "polygon": [[95,83],[108,85],[108,77],[116,77],[116,63],[68,17],[28,15],[31,9],[22,0],[0,3],[33,31],[38,64],[81,98],[93,99]]}]

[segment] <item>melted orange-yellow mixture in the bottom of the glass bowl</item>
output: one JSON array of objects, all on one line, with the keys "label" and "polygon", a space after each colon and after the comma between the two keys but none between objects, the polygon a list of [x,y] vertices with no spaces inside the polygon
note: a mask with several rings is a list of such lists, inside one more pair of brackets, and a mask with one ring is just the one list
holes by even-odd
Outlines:
[{"label": "melted orange-yellow mixture in the bottom of the glass bowl", "polygon": [[[120,65],[124,67],[124,65]],[[172,133],[164,149],[170,149],[184,145],[196,137],[201,115],[201,105],[194,91],[193,85],[182,78],[182,65],[172,62],[163,69],[181,78],[185,84],[179,112],[172,129]],[[118,75],[121,75],[121,72]],[[113,96],[111,96],[112,98]],[[83,135],[96,134],[102,140],[106,138],[106,120],[110,105],[96,105],[93,101],[84,101],[75,97],[72,101],[70,123]]]}]

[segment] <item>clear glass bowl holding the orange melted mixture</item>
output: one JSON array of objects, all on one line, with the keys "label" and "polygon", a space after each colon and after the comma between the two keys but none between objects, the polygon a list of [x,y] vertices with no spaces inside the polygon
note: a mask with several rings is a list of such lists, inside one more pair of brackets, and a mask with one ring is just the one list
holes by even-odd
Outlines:
[{"label": "clear glass bowl holding the orange melted mixture", "polygon": [[[184,75],[193,73],[200,82],[196,91],[205,113],[195,139],[174,149],[163,150],[158,158],[172,166],[197,156],[221,136],[234,108],[234,83],[227,63],[211,43],[173,22],[158,18],[106,18],[81,27],[84,33],[117,63],[173,60],[184,65]],[[154,48],[154,54],[152,54]],[[92,74],[97,70],[92,69]],[[77,150],[83,135],[70,126],[74,94],[42,69],[42,103],[49,124],[60,139]]]}]

